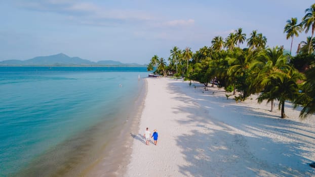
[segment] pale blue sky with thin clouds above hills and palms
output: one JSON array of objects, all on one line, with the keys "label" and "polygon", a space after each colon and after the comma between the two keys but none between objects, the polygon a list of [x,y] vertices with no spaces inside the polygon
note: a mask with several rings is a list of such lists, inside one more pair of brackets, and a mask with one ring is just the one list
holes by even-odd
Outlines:
[{"label": "pale blue sky with thin clouds above hills and palms", "polygon": [[[310,0],[0,1],[0,61],[64,53],[90,61],[147,64],[170,50],[211,46],[242,28],[267,38],[267,46],[290,50],[284,26],[301,22]],[[293,40],[292,53],[311,32]],[[246,42],[242,48],[246,47]]]}]

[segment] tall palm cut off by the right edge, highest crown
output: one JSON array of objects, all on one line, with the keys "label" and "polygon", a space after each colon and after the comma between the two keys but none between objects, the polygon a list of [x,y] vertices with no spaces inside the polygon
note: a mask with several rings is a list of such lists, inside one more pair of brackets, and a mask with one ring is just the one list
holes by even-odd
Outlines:
[{"label": "tall palm cut off by the right edge, highest crown", "polygon": [[[309,28],[311,27],[311,32],[312,35],[310,38],[313,38],[314,30],[315,30],[315,4],[311,5],[310,8],[307,8],[305,10],[305,16],[302,18],[302,25],[304,26],[305,33],[308,32]],[[309,43],[308,47],[308,54],[310,52],[310,44],[312,41]]]}]

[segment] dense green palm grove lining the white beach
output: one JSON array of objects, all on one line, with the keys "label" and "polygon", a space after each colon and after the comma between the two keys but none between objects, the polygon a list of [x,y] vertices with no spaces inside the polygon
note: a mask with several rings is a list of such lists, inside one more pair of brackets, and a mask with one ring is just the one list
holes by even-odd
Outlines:
[{"label": "dense green palm grove lining the white beach", "polygon": [[[164,76],[184,77],[203,83],[216,82],[227,92],[232,92],[236,101],[244,101],[251,94],[259,94],[258,102],[279,101],[281,117],[285,118],[284,106],[291,101],[301,105],[300,117],[305,118],[315,112],[315,4],[305,10],[298,23],[291,18],[284,27],[287,39],[291,39],[290,53],[283,47],[266,48],[267,38],[253,30],[249,37],[239,28],[225,39],[215,36],[211,47],[203,47],[194,53],[173,47],[169,64],[164,58],[154,55],[147,66],[148,71]],[[292,56],[292,43],[301,32],[311,32],[306,41],[299,43],[296,56]],[[240,45],[247,42],[247,48]]]}]

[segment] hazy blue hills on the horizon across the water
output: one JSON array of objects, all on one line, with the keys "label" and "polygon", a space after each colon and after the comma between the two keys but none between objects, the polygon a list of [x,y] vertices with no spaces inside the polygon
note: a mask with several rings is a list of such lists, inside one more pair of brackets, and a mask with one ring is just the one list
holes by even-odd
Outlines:
[{"label": "hazy blue hills on the horizon across the water", "polygon": [[144,66],[137,63],[121,63],[112,60],[92,62],[79,57],[69,57],[65,54],[35,57],[28,60],[0,61],[0,66]]}]

